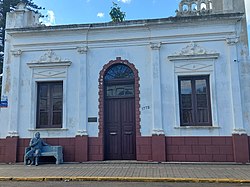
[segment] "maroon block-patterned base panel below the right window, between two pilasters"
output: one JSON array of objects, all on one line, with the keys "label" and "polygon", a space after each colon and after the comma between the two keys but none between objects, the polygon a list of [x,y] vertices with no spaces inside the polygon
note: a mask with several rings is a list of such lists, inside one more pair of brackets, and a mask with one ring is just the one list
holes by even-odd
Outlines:
[{"label": "maroon block-patterned base panel below the right window, between two pilasters", "polygon": [[166,137],[167,161],[233,162],[232,137]]}]

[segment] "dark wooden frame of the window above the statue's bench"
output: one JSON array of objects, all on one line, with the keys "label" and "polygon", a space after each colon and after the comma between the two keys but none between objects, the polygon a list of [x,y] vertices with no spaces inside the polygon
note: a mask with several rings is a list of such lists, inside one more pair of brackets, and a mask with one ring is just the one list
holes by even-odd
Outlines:
[{"label": "dark wooden frame of the window above the statue's bench", "polygon": [[[47,85],[48,86],[48,92],[49,92],[49,97],[48,97],[48,100],[49,100],[49,114],[48,114],[48,125],[41,125],[40,123],[40,87],[42,85]],[[53,96],[52,96],[52,89],[54,86],[56,85],[60,85],[61,86],[61,123],[58,124],[58,125],[53,125],[53,117],[54,117],[54,110],[53,110]],[[41,82],[37,82],[37,107],[36,107],[36,129],[56,129],[56,128],[63,128],[63,114],[64,114],[64,102],[63,102],[63,87],[64,87],[64,84],[63,84],[63,81],[41,81]],[[57,98],[58,99],[58,98]]]}]

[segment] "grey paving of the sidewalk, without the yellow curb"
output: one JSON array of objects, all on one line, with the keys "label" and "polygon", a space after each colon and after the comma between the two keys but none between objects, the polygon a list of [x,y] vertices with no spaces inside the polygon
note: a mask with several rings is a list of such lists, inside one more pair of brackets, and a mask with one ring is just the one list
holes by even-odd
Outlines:
[{"label": "grey paving of the sidewalk, without the yellow curb", "polygon": [[250,165],[169,163],[81,163],[0,165],[0,177],[155,177],[250,180]]}]

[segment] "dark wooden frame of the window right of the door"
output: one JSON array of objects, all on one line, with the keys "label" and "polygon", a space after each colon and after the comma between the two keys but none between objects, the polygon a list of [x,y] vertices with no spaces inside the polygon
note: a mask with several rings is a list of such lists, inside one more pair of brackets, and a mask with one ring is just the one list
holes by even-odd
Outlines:
[{"label": "dark wooden frame of the window right of the door", "polygon": [[[181,81],[189,80],[191,81],[191,98],[192,98],[192,123],[183,123],[183,107],[182,107],[182,97],[181,97]],[[207,115],[208,122],[198,122],[198,107],[197,107],[197,96],[196,96],[196,80],[205,80],[206,81],[206,98],[207,98]],[[212,126],[212,110],[211,110],[211,92],[210,92],[210,75],[188,75],[188,76],[178,76],[178,94],[179,94],[179,116],[180,116],[180,126],[181,127],[197,127],[204,126],[210,127]]]}]

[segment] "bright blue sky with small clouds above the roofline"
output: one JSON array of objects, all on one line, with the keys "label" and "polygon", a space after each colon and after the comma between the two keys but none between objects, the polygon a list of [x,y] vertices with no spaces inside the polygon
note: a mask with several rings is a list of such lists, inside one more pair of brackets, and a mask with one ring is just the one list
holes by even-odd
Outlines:
[{"label": "bright blue sky with small clouds above the roofline", "polygon": [[[33,0],[45,7],[46,25],[84,24],[111,21],[112,2],[126,12],[126,20],[175,16],[181,0]],[[245,0],[250,31],[250,0]]]}]

